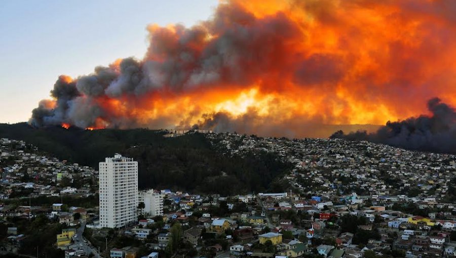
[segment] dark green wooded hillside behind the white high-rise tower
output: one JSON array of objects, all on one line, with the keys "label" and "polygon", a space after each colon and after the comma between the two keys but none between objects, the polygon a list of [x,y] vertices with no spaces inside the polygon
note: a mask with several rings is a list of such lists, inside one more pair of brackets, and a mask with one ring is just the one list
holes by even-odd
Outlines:
[{"label": "dark green wooded hillside behind the white high-rise tower", "polygon": [[265,152],[228,157],[202,134],[164,138],[148,129],[65,130],[33,128],[26,123],[0,124],[0,137],[23,140],[61,160],[98,168],[105,157],[121,153],[139,162],[139,188],[171,188],[233,194],[281,191],[274,179],[291,165]]}]

